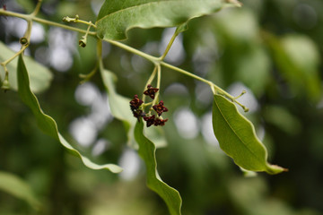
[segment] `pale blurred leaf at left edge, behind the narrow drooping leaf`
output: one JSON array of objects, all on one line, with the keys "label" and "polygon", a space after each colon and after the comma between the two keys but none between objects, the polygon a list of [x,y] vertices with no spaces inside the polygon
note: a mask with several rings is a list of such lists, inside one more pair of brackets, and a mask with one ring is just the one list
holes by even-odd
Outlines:
[{"label": "pale blurred leaf at left edge, behind the narrow drooping leaf", "polygon": [[[4,62],[13,56],[15,52],[6,47],[4,43],[0,41],[0,62]],[[9,82],[12,90],[18,89],[17,84],[17,57],[12,62],[7,64],[9,71]],[[31,90],[35,93],[48,89],[50,82],[53,79],[52,73],[42,64],[34,61],[30,56],[25,56],[27,69],[30,71],[31,77]],[[0,66],[0,76],[4,77],[4,68]]]}]

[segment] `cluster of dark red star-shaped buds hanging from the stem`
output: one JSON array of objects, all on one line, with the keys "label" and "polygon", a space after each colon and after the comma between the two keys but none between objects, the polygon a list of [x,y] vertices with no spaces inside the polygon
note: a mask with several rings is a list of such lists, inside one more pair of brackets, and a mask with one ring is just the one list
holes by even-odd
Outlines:
[{"label": "cluster of dark red star-shaped buds hanging from the stem", "polygon": [[[144,95],[149,96],[151,99],[154,99],[155,93],[158,90],[159,90],[158,88],[153,88],[153,86],[149,84],[147,86],[147,90],[144,90]],[[155,126],[165,125],[168,119],[162,119],[161,116],[163,112],[168,111],[168,108],[164,107],[162,100],[157,105],[153,106],[153,110],[157,113],[157,116],[144,113],[144,110],[142,107],[143,104],[144,104],[144,101],[142,99],[139,99],[138,95],[135,95],[134,99],[130,101],[131,111],[133,112],[133,115],[138,119],[138,122],[140,122],[140,117],[143,117],[147,127],[150,127],[152,125],[155,125]]]}]

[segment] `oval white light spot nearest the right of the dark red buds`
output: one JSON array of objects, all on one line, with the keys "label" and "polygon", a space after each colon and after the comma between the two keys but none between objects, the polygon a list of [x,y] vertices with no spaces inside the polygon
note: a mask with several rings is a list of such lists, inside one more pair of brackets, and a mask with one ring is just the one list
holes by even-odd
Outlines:
[{"label": "oval white light spot nearest the right of the dark red buds", "polygon": [[179,135],[185,139],[193,139],[199,133],[197,117],[186,107],[175,112],[174,122]]}]

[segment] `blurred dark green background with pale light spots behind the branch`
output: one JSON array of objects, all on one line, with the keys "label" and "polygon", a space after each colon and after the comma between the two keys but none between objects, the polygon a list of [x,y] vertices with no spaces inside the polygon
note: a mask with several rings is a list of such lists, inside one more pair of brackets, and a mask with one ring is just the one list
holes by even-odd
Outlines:
[{"label": "blurred dark green background with pale light spots behind the branch", "polygon": [[[7,10],[31,13],[37,1],[1,1]],[[246,177],[214,138],[212,92],[202,82],[162,69],[161,97],[169,112],[167,147],[157,150],[162,179],[183,199],[183,214],[323,214],[323,1],[242,0],[240,9],[189,22],[166,61],[239,95],[245,114],[266,144],[269,160],[289,172]],[[39,16],[54,22],[79,14],[95,21],[101,0],[44,0]],[[26,23],[0,17],[0,39],[19,49]],[[81,27],[81,25],[78,25]],[[83,26],[85,28],[85,26]],[[125,42],[160,56],[174,29],[130,30]],[[17,93],[0,92],[0,171],[21,177],[40,202],[0,190],[0,214],[162,215],[159,196],[145,186],[144,164],[127,146],[120,121],[109,111],[100,75],[80,84],[96,64],[95,39],[34,23],[26,55],[50,68],[52,80],[37,93],[61,133],[91,159],[125,168],[115,175],[85,168],[41,133]],[[2,50],[0,50],[1,52]],[[119,94],[142,93],[153,64],[104,44],[104,64],[118,75]],[[2,79],[4,76],[1,77]]]}]

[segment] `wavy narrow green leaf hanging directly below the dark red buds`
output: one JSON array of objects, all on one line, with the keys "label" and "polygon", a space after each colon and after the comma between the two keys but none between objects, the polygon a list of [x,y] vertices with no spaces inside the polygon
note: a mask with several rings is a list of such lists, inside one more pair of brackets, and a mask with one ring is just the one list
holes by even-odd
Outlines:
[{"label": "wavy narrow green leaf hanging directly below the dark red buds", "polygon": [[171,215],[180,214],[181,198],[179,192],[170,187],[170,185],[165,184],[158,175],[155,156],[156,148],[153,142],[144,136],[143,130],[143,121],[136,123],[135,141],[139,144],[138,153],[140,157],[144,159],[147,174],[147,186],[162,197],[163,201],[168,206]]}]

